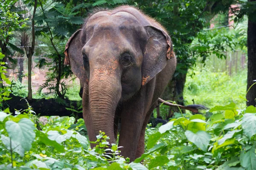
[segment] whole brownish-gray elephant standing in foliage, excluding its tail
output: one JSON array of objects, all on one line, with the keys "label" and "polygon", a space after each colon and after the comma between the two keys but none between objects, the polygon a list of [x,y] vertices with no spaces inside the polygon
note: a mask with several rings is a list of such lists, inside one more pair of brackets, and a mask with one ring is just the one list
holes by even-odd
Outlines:
[{"label": "whole brownish-gray elephant standing in foliage, excluding its tail", "polygon": [[67,42],[65,54],[83,87],[89,140],[102,130],[116,143],[121,118],[121,154],[140,157],[151,112],[176,68],[166,31],[130,6],[97,11]]}]

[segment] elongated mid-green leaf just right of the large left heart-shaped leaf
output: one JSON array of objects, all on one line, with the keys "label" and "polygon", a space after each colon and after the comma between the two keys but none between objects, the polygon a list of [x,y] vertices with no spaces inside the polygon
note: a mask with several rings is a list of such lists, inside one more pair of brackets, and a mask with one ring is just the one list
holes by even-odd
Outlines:
[{"label": "elongated mid-green leaf just right of the large left heart-shaped leaf", "polygon": [[64,147],[61,144],[58,144],[56,141],[50,140],[47,134],[42,131],[36,131],[36,136],[38,137],[40,142],[43,142],[47,146],[54,147],[58,152],[65,152]]}]

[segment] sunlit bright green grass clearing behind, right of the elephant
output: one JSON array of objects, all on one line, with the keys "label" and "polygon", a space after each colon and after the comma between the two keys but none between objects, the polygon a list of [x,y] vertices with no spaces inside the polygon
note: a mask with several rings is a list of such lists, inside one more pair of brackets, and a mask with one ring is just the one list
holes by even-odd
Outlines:
[{"label": "sunlit bright green grass clearing behind, right of the elephant", "polygon": [[184,88],[186,105],[205,105],[212,108],[216,105],[236,103],[239,107],[246,105],[247,71],[240,71],[230,77],[226,72],[212,72],[209,68],[190,70]]}]

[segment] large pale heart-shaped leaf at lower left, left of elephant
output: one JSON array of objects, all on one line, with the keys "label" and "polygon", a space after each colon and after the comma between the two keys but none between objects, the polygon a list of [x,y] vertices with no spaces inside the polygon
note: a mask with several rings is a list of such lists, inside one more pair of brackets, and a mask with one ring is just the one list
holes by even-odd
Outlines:
[{"label": "large pale heart-shaped leaf at lower left, left of elephant", "polygon": [[30,150],[31,144],[35,140],[34,122],[24,118],[20,119],[18,123],[7,121],[5,127],[13,142],[20,144],[25,151]]}]

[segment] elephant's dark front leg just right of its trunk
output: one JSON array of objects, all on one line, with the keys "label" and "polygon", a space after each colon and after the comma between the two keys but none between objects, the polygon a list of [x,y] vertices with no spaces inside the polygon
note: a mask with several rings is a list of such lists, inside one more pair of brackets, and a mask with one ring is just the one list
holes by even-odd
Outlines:
[{"label": "elephant's dark front leg just right of its trunk", "polygon": [[[154,86],[150,86],[152,88]],[[150,88],[143,89],[143,93],[134,96],[132,101],[126,103],[128,107],[122,108],[121,130],[119,136],[119,146],[121,155],[134,161],[140,140],[143,122],[147,111],[150,109],[153,91]],[[145,128],[143,129],[145,130]],[[144,131],[145,133],[145,131]],[[143,136],[144,137],[144,136]],[[144,151],[144,150],[143,150]]]}]

